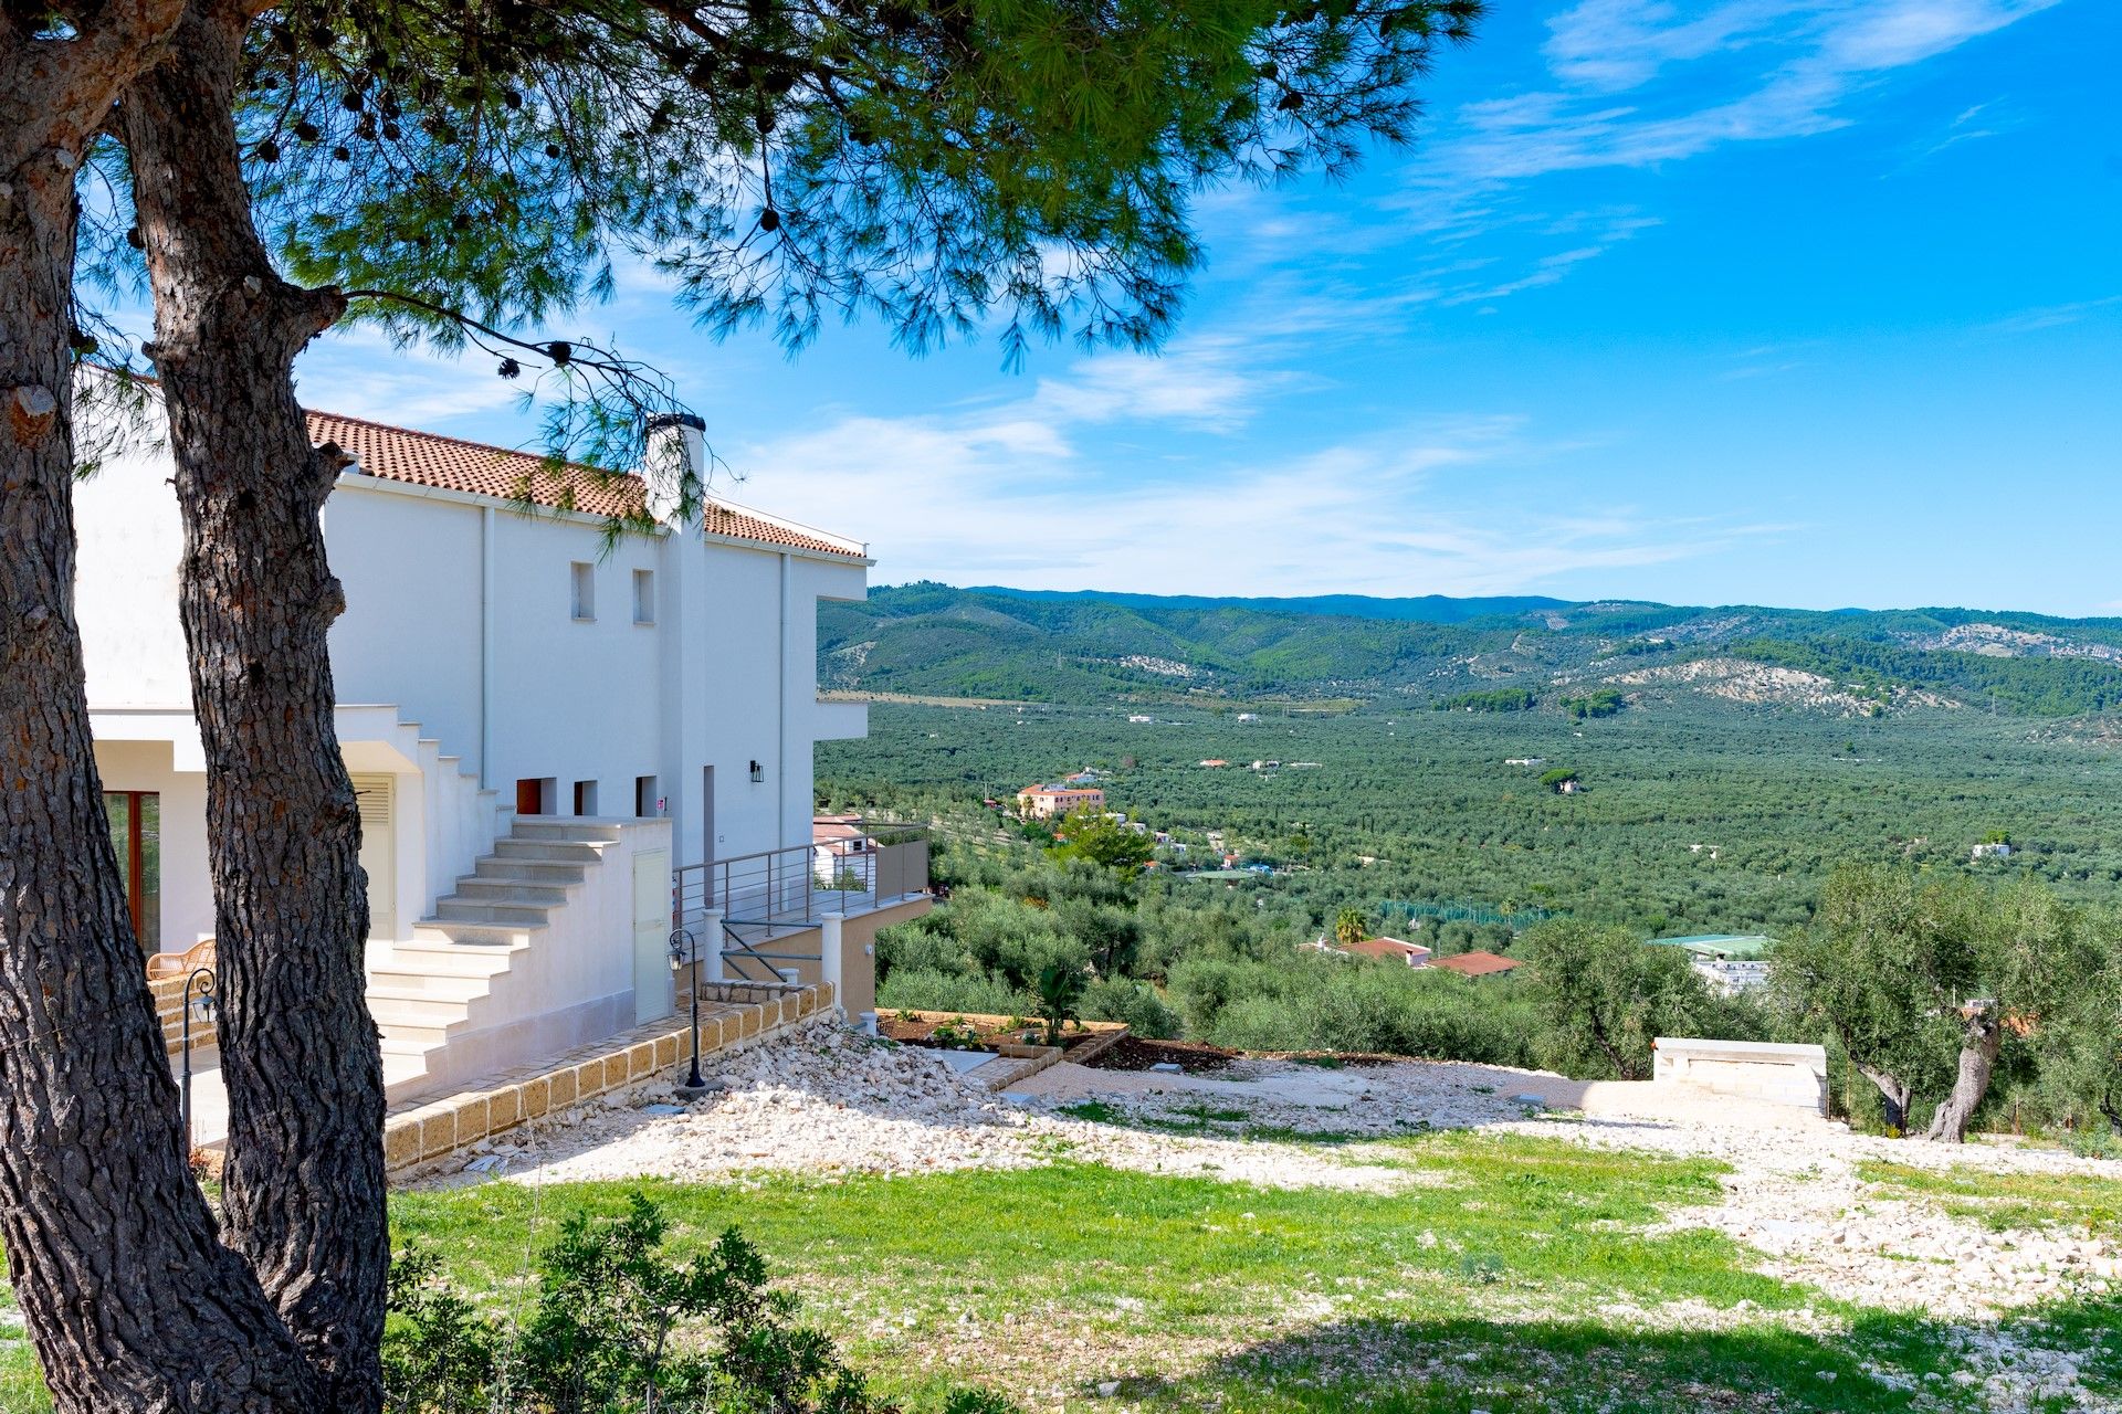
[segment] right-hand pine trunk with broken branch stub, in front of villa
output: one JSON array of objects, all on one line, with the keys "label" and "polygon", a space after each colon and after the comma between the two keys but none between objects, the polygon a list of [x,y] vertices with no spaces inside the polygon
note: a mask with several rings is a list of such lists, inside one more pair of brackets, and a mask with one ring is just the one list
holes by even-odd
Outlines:
[{"label": "right-hand pine trunk with broken branch stub, in front of villa", "polygon": [[384,1081],[365,996],[361,818],[325,636],[344,608],[318,517],[346,458],[310,445],[295,354],[344,310],[257,237],[233,95],[248,13],[193,4],[127,98],[155,365],[185,515],[180,604],[206,746],[229,1092],[227,1240],[335,1412],[382,1403]]}]

